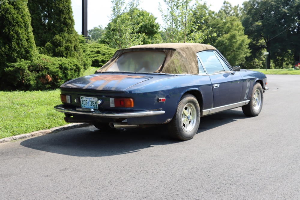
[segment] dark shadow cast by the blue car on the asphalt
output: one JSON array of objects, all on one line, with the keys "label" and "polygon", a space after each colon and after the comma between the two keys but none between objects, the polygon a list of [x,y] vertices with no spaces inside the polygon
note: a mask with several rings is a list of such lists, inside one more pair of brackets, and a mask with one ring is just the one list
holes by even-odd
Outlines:
[{"label": "dark shadow cast by the blue car on the asphalt", "polygon": [[[245,118],[243,113],[235,110],[202,117],[197,134],[242,118]],[[182,141],[171,139],[166,127],[158,125],[144,129],[117,129],[112,132],[101,132],[94,126],[89,126],[29,138],[20,144],[50,153],[102,157],[134,153],[145,148],[178,142]]]}]

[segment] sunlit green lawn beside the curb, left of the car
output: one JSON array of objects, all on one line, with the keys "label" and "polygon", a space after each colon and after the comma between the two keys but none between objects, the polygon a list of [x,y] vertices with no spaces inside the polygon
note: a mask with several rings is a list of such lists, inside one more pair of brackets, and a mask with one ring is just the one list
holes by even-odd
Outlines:
[{"label": "sunlit green lawn beside the curb, left of the car", "polygon": [[[94,74],[95,67],[83,75]],[[0,91],[0,139],[67,124],[64,114],[54,110],[61,104],[60,91]]]}]

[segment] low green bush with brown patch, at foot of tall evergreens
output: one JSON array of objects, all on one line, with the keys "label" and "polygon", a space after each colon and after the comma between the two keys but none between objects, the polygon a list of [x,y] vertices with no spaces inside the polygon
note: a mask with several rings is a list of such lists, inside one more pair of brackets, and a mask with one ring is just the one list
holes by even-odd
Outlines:
[{"label": "low green bush with brown patch, at foot of tall evergreens", "polygon": [[31,61],[7,63],[1,77],[1,90],[56,89],[79,77],[83,67],[77,59],[53,58],[43,54]]}]

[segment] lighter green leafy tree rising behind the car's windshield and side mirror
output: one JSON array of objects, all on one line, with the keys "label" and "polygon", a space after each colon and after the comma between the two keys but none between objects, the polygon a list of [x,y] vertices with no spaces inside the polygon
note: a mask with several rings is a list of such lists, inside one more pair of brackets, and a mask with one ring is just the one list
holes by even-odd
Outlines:
[{"label": "lighter green leafy tree rising behind the car's windshield and side mirror", "polygon": [[193,9],[193,15],[197,30],[204,33],[203,42],[216,47],[229,63],[242,64],[245,57],[250,55],[250,40],[244,34],[238,6],[224,1],[219,12],[215,13],[209,10],[206,3],[198,2]]}]

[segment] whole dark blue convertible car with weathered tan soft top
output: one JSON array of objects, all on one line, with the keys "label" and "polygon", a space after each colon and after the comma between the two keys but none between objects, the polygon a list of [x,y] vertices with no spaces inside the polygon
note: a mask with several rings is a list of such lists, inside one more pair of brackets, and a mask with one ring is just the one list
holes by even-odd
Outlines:
[{"label": "whole dark blue convertible car with weathered tan soft top", "polygon": [[237,107],[257,116],[266,84],[263,73],[232,67],[210,45],[139,45],[62,84],[62,104],[54,108],[66,122],[103,130],[167,124],[173,137],[189,140],[202,116]]}]

